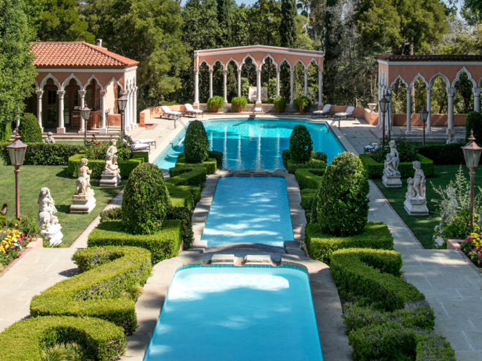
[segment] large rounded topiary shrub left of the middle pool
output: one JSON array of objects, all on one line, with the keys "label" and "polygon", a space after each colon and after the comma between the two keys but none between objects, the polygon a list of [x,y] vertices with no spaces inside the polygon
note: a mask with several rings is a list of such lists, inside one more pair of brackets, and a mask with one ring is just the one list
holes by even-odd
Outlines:
[{"label": "large rounded topiary shrub left of the middle pool", "polygon": [[151,163],[134,168],[125,184],[122,200],[124,229],[132,234],[154,234],[163,226],[169,193],[163,172]]}]

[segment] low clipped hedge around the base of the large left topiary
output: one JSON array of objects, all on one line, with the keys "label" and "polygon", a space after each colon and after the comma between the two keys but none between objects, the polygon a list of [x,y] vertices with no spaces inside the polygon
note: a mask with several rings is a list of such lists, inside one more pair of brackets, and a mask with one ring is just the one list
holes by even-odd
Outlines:
[{"label": "low clipped hedge around the base of the large left topiary", "polygon": [[178,255],[182,242],[181,221],[166,219],[156,234],[129,234],[122,228],[122,221],[105,221],[94,228],[87,239],[87,247],[107,245],[145,248],[151,252],[153,264]]}]

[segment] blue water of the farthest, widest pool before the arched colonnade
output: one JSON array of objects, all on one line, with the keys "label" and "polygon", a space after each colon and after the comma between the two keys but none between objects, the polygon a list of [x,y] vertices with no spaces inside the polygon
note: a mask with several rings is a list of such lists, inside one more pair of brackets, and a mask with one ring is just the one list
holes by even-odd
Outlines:
[{"label": "blue water of the farthest, widest pool before the arched colonnade", "polygon": [[[289,149],[289,137],[297,124],[303,124],[310,132],[313,150],[326,153],[328,163],[344,151],[332,132],[326,134],[325,123],[284,119],[231,119],[204,122],[209,149],[224,154],[223,166],[233,171],[259,169],[274,171],[284,168],[281,153]],[[176,165],[182,142],[173,144],[167,155],[160,155],[154,164],[163,169]]]}]

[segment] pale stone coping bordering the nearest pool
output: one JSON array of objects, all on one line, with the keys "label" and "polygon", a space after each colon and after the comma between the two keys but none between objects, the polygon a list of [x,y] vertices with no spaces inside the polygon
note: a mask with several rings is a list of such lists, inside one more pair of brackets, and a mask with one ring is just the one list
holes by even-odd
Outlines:
[{"label": "pale stone coping bordering the nearest pool", "polygon": [[[202,265],[206,256],[200,251],[189,250],[154,265],[151,276],[144,285],[144,292],[136,302],[138,329],[132,336],[127,336],[126,352],[121,360],[143,361],[174,274],[187,265]],[[233,265],[234,259],[233,254],[227,254],[218,257],[220,262],[216,264]],[[328,265],[291,254],[281,254],[280,265],[300,267],[308,272],[324,361],[353,360],[348,336],[345,334],[346,327],[342,322],[342,305]]]}]

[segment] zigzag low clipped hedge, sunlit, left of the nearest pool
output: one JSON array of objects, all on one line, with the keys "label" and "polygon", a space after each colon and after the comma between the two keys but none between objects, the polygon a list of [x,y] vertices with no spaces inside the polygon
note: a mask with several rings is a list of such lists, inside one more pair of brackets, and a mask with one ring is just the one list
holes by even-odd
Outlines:
[{"label": "zigzag low clipped hedge, sunlit, left of the nearest pool", "polygon": [[85,272],[34,296],[30,316],[90,316],[134,333],[136,307],[125,294],[146,283],[152,269],[151,254],[137,247],[103,247],[78,250],[74,259]]}]

